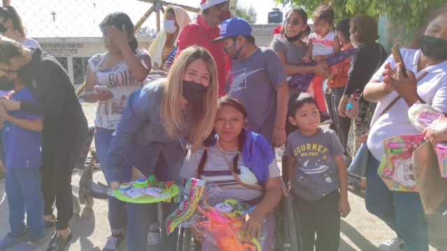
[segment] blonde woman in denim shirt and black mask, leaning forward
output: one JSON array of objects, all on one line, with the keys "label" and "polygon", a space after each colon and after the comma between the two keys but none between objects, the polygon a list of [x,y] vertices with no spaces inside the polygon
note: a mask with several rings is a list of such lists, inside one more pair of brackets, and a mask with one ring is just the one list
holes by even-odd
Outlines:
[{"label": "blonde woman in denim shirt and black mask, leaning forward", "polygon": [[[159,181],[179,176],[185,137],[195,152],[210,134],[217,114],[217,68],[205,48],[183,50],[167,79],[150,82],[134,91],[119,121],[108,151],[108,180],[119,188],[131,178],[154,174]],[[165,221],[178,204],[162,204],[161,250],[177,250],[178,230],[166,234]],[[157,221],[156,204],[127,204],[127,248],[147,250],[147,230]],[[141,231],[140,229],[145,229]]]}]

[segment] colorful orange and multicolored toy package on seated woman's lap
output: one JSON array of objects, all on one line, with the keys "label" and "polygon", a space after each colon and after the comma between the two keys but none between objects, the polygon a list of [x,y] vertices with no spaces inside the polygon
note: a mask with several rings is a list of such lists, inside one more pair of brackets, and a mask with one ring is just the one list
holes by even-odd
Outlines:
[{"label": "colorful orange and multicolored toy package on seated woman's lap", "polygon": [[190,178],[180,195],[179,208],[166,220],[166,231],[170,234],[175,227],[195,227],[219,250],[261,251],[265,228],[260,239],[241,241],[240,229],[244,222],[240,217],[253,210],[254,206],[224,198],[223,194],[217,185]]}]

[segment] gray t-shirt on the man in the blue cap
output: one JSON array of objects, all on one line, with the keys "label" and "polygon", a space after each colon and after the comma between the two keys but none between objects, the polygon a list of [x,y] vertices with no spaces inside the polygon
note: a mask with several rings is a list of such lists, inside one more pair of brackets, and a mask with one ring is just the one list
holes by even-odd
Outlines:
[{"label": "gray t-shirt on the man in the blue cap", "polygon": [[259,48],[247,59],[231,63],[225,91],[244,102],[249,114],[248,129],[272,142],[277,113],[279,84],[286,82],[286,74],[279,56],[271,49]]}]

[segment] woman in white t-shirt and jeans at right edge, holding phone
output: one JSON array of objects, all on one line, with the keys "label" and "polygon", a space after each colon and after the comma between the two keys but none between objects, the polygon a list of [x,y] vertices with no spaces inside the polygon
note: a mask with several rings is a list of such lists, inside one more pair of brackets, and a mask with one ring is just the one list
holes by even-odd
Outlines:
[{"label": "woman in white t-shirt and jeans at right edge, holding phone", "polygon": [[420,134],[409,121],[409,107],[419,101],[447,113],[447,6],[437,10],[419,34],[419,50],[401,50],[408,78],[402,64],[390,56],[363,92],[366,100],[378,102],[367,139],[365,203],[370,213],[396,232],[395,238],[379,246],[382,250],[428,250],[427,222],[418,192],[390,191],[377,174],[385,139]]}]

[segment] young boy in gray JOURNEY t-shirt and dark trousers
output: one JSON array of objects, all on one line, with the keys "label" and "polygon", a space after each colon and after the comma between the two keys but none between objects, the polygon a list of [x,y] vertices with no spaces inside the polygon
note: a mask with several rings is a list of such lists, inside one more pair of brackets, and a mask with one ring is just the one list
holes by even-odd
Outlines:
[{"label": "young boy in gray JOURNEY t-shirt and dark trousers", "polygon": [[333,130],[319,127],[320,113],[309,94],[292,96],[288,113],[288,121],[300,128],[288,135],[286,155],[303,250],[315,245],[317,250],[337,251],[340,216],[351,211],[342,143]]}]

